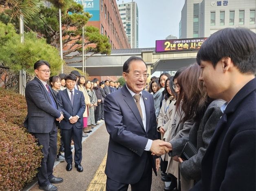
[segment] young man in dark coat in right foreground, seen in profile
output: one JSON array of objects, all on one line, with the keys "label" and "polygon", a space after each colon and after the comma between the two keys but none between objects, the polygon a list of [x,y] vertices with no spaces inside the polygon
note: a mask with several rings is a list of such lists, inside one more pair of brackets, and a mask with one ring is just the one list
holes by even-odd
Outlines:
[{"label": "young man in dark coat in right foreground, seen in profile", "polygon": [[217,31],[196,60],[208,96],[226,103],[202,160],[202,178],[192,190],[256,190],[256,34],[243,28]]}]

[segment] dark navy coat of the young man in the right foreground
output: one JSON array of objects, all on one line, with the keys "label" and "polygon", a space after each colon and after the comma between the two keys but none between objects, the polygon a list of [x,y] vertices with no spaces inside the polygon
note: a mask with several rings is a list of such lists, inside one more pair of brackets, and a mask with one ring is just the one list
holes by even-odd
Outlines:
[{"label": "dark navy coat of the young man in the right foreground", "polygon": [[192,190],[256,190],[256,79],[228,103],[202,160]]}]

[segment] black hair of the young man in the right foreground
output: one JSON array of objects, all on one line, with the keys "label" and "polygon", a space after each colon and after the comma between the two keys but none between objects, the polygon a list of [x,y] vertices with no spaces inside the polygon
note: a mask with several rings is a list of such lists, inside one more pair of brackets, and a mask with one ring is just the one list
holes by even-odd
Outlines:
[{"label": "black hair of the young man in the right foreground", "polygon": [[256,34],[245,28],[225,28],[213,33],[201,45],[197,64],[210,61],[215,68],[223,57],[230,57],[241,73],[256,74]]}]

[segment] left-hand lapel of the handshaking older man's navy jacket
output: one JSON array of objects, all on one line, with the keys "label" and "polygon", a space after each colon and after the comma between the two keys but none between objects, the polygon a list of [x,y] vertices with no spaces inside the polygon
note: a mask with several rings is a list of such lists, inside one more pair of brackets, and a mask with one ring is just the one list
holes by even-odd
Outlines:
[{"label": "left-hand lapel of the handshaking older man's navy jacket", "polygon": [[142,129],[145,131],[143,123],[142,123],[141,116],[139,114],[139,110],[138,110],[137,105],[135,103],[135,100],[133,99],[132,95],[130,94],[130,92],[128,91],[126,86],[124,86],[124,88],[122,88],[122,92],[123,92],[123,95],[124,95],[124,101],[127,103],[128,107],[132,110],[132,113],[134,114],[134,116],[138,120]]}]

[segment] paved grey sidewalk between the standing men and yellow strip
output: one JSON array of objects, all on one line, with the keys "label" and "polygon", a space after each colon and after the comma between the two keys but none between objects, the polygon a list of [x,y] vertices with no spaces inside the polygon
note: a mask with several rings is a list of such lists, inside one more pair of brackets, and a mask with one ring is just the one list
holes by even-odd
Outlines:
[{"label": "paved grey sidewalk between the standing men and yellow strip", "polygon": [[[84,167],[84,171],[82,173],[75,169],[74,164],[72,171],[66,171],[65,161],[55,161],[53,174],[56,177],[62,177],[64,179],[62,183],[54,184],[58,187],[59,191],[86,190],[90,180],[93,179],[95,172],[97,171],[99,165],[107,153],[108,137],[109,135],[106,131],[105,123],[100,123],[94,127],[92,132],[88,134],[88,137],[83,137],[83,159],[81,165]],[[74,145],[72,146],[74,147]],[[74,151],[74,149],[72,151]],[[29,185],[24,187],[22,191],[40,191],[37,178]]]}]

